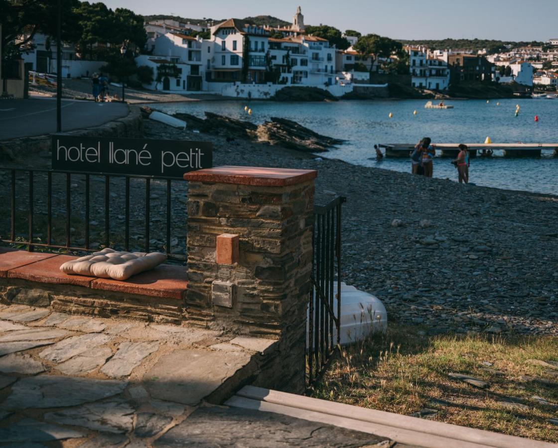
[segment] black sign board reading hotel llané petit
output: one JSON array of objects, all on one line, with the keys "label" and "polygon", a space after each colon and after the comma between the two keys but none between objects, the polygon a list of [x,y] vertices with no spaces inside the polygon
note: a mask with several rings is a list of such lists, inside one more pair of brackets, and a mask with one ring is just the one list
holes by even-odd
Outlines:
[{"label": "black sign board reading hotel llan\u00e9 petit", "polygon": [[213,167],[213,145],[188,140],[52,136],[52,169],[182,179]]}]

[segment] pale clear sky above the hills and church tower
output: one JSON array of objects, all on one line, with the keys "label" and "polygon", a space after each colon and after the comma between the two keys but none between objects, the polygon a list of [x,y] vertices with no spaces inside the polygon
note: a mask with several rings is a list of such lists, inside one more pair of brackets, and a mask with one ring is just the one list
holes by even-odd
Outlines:
[{"label": "pale clear sky above the hills and church tower", "polygon": [[[90,0],[94,1],[94,0]],[[307,25],[399,39],[479,38],[546,41],[558,37],[558,0],[101,0],[109,8],[187,18],[270,15],[292,21],[301,6]]]}]

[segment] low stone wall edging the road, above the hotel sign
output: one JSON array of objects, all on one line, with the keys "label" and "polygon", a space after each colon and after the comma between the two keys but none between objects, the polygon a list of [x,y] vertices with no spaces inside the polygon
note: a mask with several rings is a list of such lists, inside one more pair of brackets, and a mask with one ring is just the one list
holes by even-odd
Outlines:
[{"label": "low stone wall edging the road, above the hotel sign", "polygon": [[[85,135],[92,137],[143,137],[143,121],[138,106],[129,105],[129,113],[123,118],[109,121],[94,128],[76,129],[65,132],[65,135]],[[17,154],[38,153],[50,150],[51,134],[35,137],[22,137],[0,142],[0,160],[2,157],[14,159]]]}]

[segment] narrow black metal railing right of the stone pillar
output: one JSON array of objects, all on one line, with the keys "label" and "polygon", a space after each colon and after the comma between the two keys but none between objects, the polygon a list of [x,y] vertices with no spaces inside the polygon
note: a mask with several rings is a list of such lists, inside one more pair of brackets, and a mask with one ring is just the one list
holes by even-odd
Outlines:
[{"label": "narrow black metal railing right of the stone pillar", "polygon": [[341,204],[345,200],[339,196],[325,206],[314,207],[314,257],[306,338],[309,386],[320,376],[340,340]]}]

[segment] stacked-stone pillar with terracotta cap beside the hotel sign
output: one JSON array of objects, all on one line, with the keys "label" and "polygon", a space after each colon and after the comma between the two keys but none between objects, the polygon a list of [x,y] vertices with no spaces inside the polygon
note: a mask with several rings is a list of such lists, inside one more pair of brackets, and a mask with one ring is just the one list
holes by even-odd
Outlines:
[{"label": "stacked-stone pillar with terracotta cap beside the hotel sign", "polygon": [[[186,173],[187,314],[238,334],[279,339],[282,378],[304,386],[316,171],[218,167]],[[223,235],[227,234],[227,235]],[[238,255],[220,254],[217,237]]]}]

